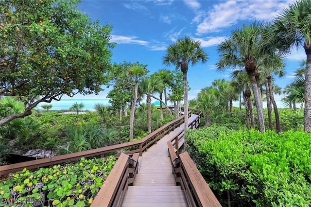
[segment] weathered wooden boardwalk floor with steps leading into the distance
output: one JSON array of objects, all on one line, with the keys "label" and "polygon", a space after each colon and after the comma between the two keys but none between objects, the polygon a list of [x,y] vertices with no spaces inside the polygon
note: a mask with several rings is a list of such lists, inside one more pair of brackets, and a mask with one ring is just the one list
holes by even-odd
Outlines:
[{"label": "weathered wooden boardwalk floor with steps leading into the distance", "polygon": [[[192,114],[189,122],[196,117]],[[183,191],[176,186],[167,147],[167,141],[183,129],[184,124],[142,154],[138,174],[126,191],[123,207],[187,207]]]}]

